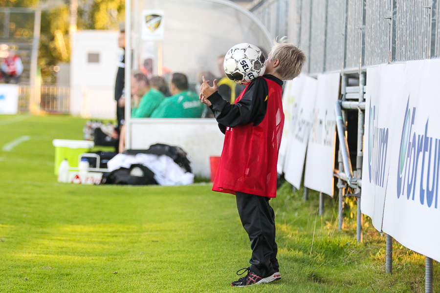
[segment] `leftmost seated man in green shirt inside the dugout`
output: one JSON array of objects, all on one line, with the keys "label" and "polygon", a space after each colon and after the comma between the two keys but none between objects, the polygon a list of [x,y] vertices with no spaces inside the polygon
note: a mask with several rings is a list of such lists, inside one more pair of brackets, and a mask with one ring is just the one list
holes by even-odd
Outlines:
[{"label": "leftmost seated man in green shirt inside the dugout", "polygon": [[165,99],[160,91],[150,86],[150,81],[142,72],[132,75],[132,95],[135,101],[132,108],[132,118],[150,117]]}]

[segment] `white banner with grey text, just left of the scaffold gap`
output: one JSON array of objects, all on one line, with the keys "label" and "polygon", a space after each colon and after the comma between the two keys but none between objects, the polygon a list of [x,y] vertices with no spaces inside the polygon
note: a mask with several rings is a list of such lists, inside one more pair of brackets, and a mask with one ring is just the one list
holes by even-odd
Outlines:
[{"label": "white banner with grey text, just left of the scaffold gap", "polygon": [[313,126],[308,139],[304,186],[333,196],[334,145],[340,73],[318,75]]}]

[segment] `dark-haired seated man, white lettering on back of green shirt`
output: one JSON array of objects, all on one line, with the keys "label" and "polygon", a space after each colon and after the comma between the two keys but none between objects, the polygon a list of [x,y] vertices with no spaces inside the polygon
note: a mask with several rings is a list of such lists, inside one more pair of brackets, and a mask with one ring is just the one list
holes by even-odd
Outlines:
[{"label": "dark-haired seated man, white lettering on back of green shirt", "polygon": [[171,97],[166,98],[151,114],[151,118],[201,118],[205,106],[198,95],[188,90],[188,78],[174,73],[170,84]]}]

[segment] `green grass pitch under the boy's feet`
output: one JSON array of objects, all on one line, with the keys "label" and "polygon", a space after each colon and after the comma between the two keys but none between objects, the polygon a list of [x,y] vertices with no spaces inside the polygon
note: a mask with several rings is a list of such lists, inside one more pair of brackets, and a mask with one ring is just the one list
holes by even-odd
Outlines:
[{"label": "green grass pitch under the boy's feet", "polygon": [[[248,266],[249,240],[231,195],[185,187],[60,184],[52,140],[82,139],[85,120],[0,116],[0,292],[424,292],[424,257],[394,244],[385,274],[385,236],[355,211],[337,230],[337,202],[302,200],[284,184],[276,211],[280,272],[271,284],[232,288]],[[440,267],[434,262],[434,291]]]}]

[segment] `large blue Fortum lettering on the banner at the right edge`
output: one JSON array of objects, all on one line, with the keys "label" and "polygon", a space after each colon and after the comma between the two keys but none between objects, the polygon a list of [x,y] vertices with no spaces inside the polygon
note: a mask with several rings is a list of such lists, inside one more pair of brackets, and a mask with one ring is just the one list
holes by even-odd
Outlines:
[{"label": "large blue Fortum lettering on the banner at the right edge", "polygon": [[[397,198],[405,194],[407,200],[416,200],[416,188],[419,190],[419,202],[428,208],[437,209],[439,193],[440,139],[428,136],[429,117],[422,133],[413,131],[416,107],[409,108],[409,97],[403,119],[397,167]],[[427,159],[427,162],[425,162]],[[434,159],[434,160],[432,160]],[[421,160],[421,162],[420,162]],[[418,165],[421,171],[418,174]]]}]

